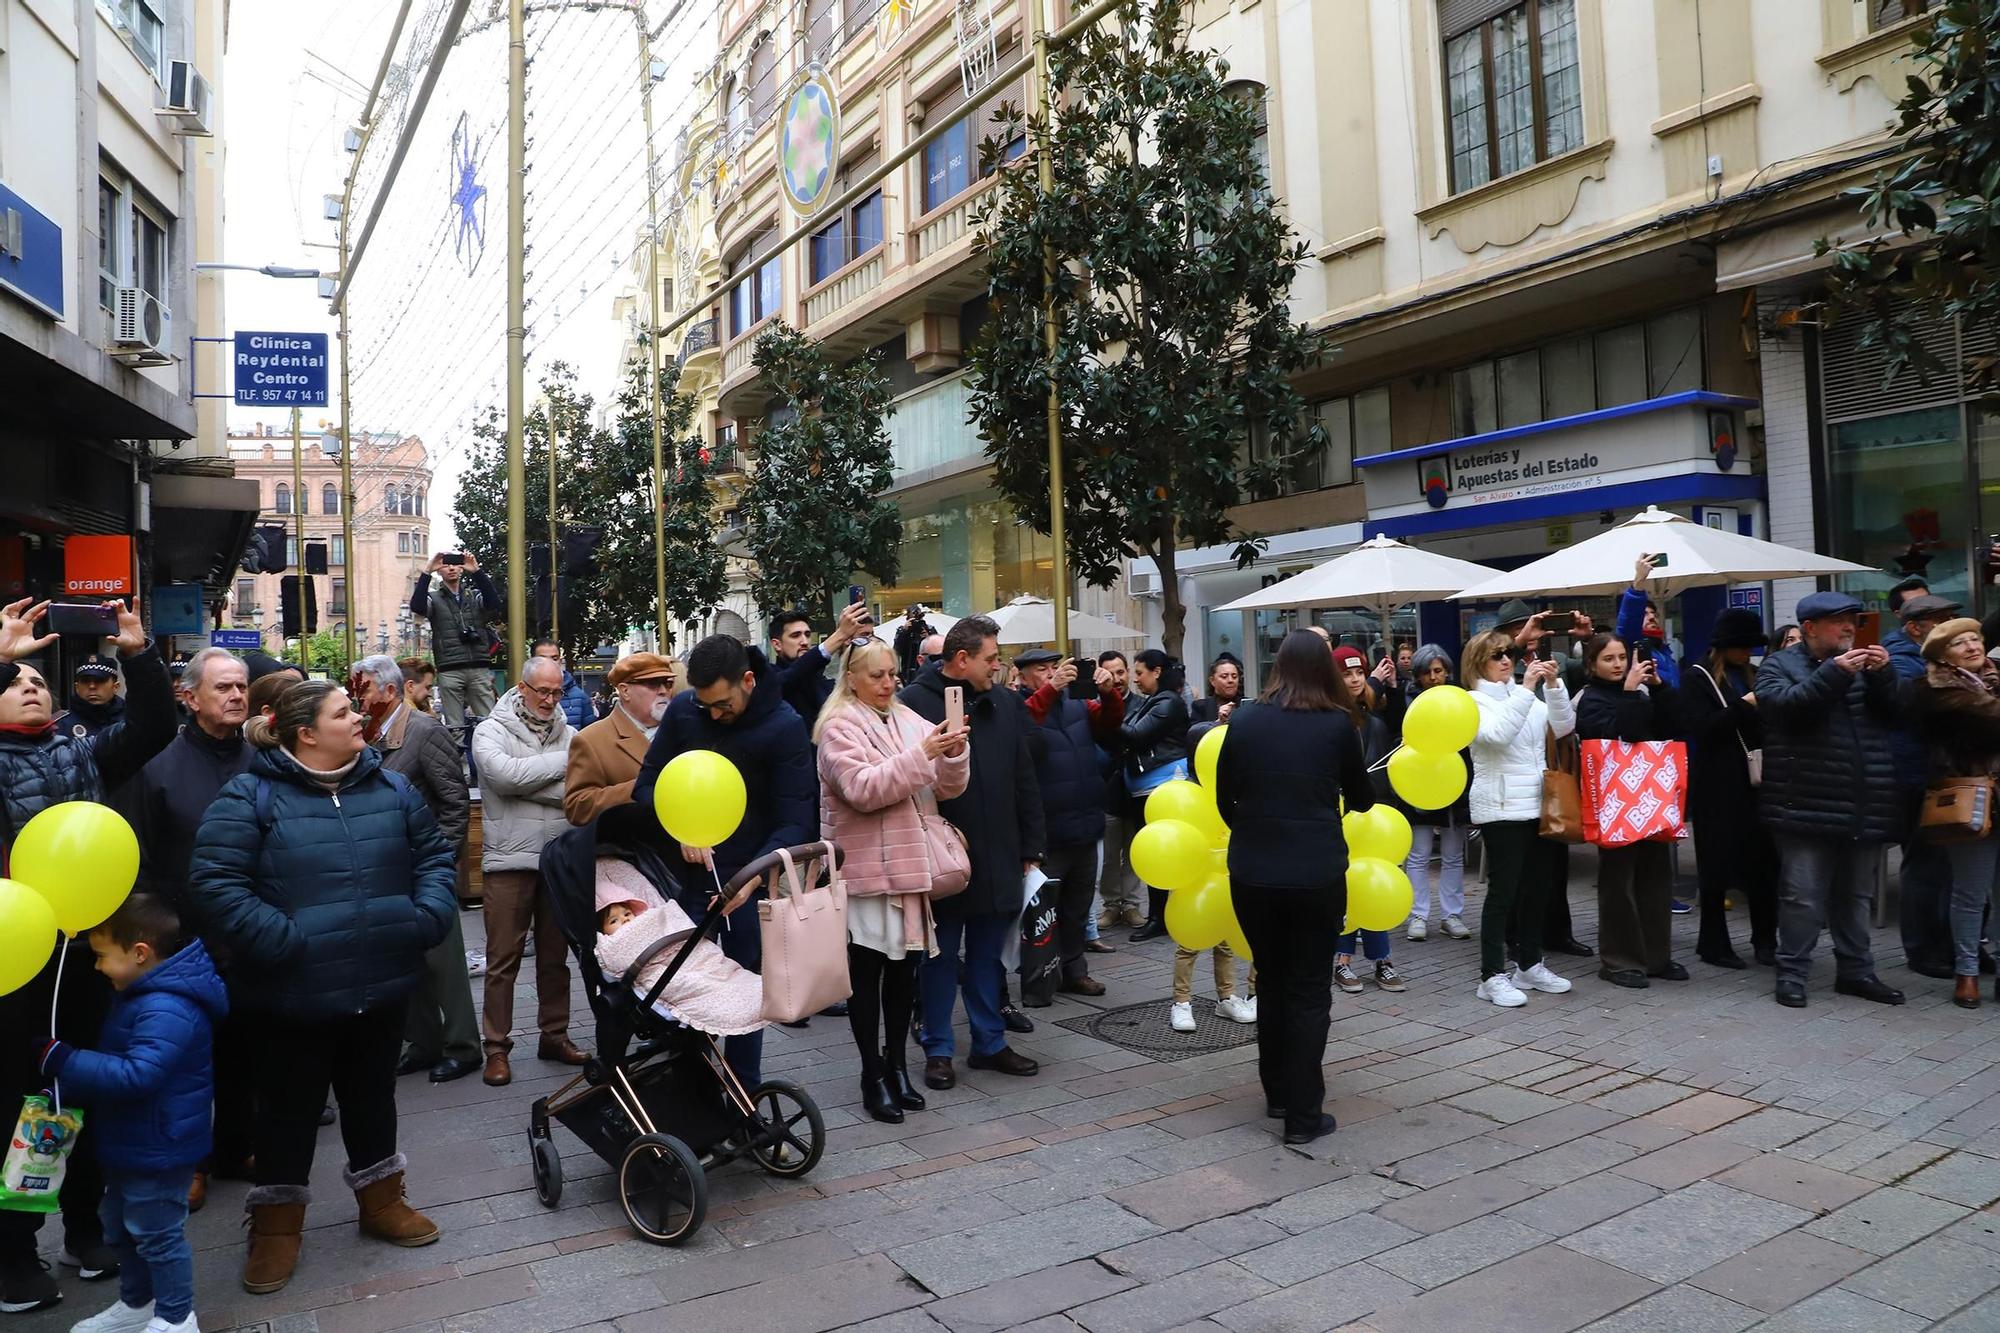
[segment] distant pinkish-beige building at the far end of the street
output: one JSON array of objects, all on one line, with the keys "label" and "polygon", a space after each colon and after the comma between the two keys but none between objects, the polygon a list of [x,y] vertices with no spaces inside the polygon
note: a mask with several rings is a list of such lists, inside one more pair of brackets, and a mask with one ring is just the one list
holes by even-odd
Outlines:
[{"label": "distant pinkish-beige building at the far end of the street", "polygon": [[326,544],[326,572],[310,574],[320,630],[354,620],[362,652],[422,652],[428,626],[410,616],[410,588],[430,564],[430,456],[410,434],[354,432],[354,550],[340,514],[340,426],[308,420],[300,432],[304,486],[292,470],[290,420],[260,422],[230,434],[236,476],[258,494],[258,524],[284,524],[286,572],[234,576],[228,622],[264,632],[264,648],[282,652],[280,584],[300,570],[296,528],[308,550]]}]

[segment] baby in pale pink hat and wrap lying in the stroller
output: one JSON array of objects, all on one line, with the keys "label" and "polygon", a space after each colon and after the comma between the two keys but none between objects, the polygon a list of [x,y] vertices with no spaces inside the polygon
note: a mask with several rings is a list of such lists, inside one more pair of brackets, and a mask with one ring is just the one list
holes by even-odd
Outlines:
[{"label": "baby in pale pink hat and wrap lying in the stroller", "polygon": [[[606,979],[624,977],[654,941],[672,941],[634,977],[632,989],[640,997],[652,991],[680,957],[680,943],[694,933],[688,913],[662,899],[636,865],[618,857],[596,861],[596,913],[594,953]],[[654,1009],[714,1037],[754,1033],[764,1027],[764,981],[724,957],[712,939],[704,939],[666,983]]]}]

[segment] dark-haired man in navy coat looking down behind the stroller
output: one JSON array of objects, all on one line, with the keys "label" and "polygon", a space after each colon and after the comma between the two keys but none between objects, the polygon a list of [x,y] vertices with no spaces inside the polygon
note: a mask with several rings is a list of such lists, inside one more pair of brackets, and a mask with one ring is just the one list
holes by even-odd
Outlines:
[{"label": "dark-haired man in navy coat looking down behind the stroller", "polygon": [[[686,751],[716,751],[736,765],[744,777],[744,821],[716,847],[680,849],[686,881],[708,883],[712,891],[758,857],[818,837],[820,787],[806,723],[784,701],[776,669],[762,652],[728,634],[710,634],[688,652],[688,693],[666,705],[632,801],[650,811],[660,771]],[[764,965],[754,899],[730,913],[718,943],[752,973]],[[728,1037],[722,1053],[744,1087],[762,1081],[764,1033]]]}]

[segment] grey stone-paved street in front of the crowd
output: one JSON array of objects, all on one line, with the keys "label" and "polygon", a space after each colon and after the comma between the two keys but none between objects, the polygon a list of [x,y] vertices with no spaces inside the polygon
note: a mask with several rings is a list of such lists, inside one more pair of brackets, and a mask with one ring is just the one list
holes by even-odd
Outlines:
[{"label": "grey stone-paved street in front of the crowd", "polygon": [[[402,1083],[438,1245],[356,1237],[330,1129],[282,1293],[236,1283],[244,1185],[194,1219],[202,1327],[2000,1329],[2000,1007],[1954,1009],[1888,929],[1876,957],[1908,1007],[1832,995],[1822,959],[1810,1009],[1780,1009],[1768,971],[1700,965],[1694,919],[1674,927],[1692,981],[1620,991],[1558,959],[1576,989],[1518,1011],[1472,997],[1476,941],[1398,933],[1408,993],[1334,997],[1340,1131],[1310,1153],[1264,1119],[1254,1045],[1162,1063],[1058,1025],[1144,999],[1164,1025],[1172,949],[1124,931],[1094,961],[1110,993],[1016,1039],[1040,1077],[962,1073],[900,1127],[858,1113],[846,1023],[774,1031],[766,1067],[820,1099],[826,1159],[792,1185],[718,1171],[682,1249],[634,1239],[566,1131],[562,1207],[536,1201],[528,1103],[562,1071],[530,1035],[508,1089]],[[1736,931],[1744,947],[1740,913]],[[466,935],[480,947],[478,915]],[[532,1015],[524,985],[516,1023]],[[0,1323],[66,1329],[112,1299],[64,1285],[62,1309]]]}]

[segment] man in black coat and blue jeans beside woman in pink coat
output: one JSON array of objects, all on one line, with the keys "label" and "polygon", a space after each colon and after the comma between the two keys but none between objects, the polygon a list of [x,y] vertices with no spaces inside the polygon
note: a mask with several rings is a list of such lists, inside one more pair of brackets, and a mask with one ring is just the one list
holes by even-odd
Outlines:
[{"label": "man in black coat and blue jeans beside woman in pink coat", "polygon": [[[924,959],[924,1083],[948,1089],[952,1071],[952,1007],[966,997],[972,1027],[970,1069],[1032,1075],[1036,1065],[1006,1045],[1000,1017],[1000,961],[1010,931],[1020,929],[1022,877],[1042,861],[1046,835],[1042,791],[1034,781],[1028,733],[1034,719],[1014,691],[994,689],[1000,666],[1000,626],[986,616],[966,616],[944,636],[944,660],[932,662],[904,687],[900,699],[932,723],[942,723],[944,691],[964,691],[972,731],[972,779],[962,797],[938,803],[938,813],[966,835],[972,883],[936,905],[938,957]],[[964,983],[958,957],[964,949]]]}]

